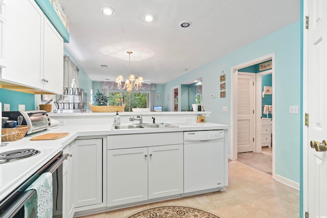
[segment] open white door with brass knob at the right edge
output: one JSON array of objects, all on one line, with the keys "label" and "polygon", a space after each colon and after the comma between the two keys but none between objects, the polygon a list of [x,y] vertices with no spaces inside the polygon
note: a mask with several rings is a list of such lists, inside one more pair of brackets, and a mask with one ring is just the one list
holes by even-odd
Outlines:
[{"label": "open white door with brass knob at the right edge", "polygon": [[[303,148],[307,148],[308,162],[303,161],[303,172],[308,175],[308,186],[304,186],[304,207],[308,207],[309,217],[327,216],[327,152],[322,142],[327,139],[327,4],[323,0],[309,0],[309,30],[308,33],[308,140],[303,141]],[[306,48],[305,48],[306,49]],[[305,55],[306,56],[306,55]],[[307,60],[304,60],[305,64]],[[306,69],[305,69],[306,70]],[[312,145],[321,149],[317,152]],[[317,142],[313,142],[317,141]],[[306,179],[306,178],[304,178]]]}]

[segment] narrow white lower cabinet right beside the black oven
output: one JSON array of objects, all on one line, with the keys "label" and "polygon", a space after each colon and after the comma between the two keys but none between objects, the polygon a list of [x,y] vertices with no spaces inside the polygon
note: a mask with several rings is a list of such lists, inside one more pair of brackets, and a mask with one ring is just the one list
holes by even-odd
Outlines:
[{"label": "narrow white lower cabinet right beside the black oven", "polygon": [[69,156],[62,167],[62,217],[72,218],[75,213],[74,142],[66,146],[63,153]]}]

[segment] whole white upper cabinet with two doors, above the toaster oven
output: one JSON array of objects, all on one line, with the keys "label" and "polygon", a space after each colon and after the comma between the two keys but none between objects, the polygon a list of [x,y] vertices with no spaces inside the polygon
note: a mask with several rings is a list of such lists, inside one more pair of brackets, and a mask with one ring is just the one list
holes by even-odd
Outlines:
[{"label": "whole white upper cabinet with two doors, above the toaster oven", "polygon": [[63,39],[34,0],[6,2],[1,79],[38,90],[62,93]]}]

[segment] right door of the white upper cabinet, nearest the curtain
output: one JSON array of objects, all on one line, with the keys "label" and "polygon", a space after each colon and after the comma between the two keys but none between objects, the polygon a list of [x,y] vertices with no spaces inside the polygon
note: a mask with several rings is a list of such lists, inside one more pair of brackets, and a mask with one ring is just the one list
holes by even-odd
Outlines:
[{"label": "right door of the white upper cabinet, nearest the curtain", "polygon": [[43,89],[62,94],[63,39],[44,16]]}]

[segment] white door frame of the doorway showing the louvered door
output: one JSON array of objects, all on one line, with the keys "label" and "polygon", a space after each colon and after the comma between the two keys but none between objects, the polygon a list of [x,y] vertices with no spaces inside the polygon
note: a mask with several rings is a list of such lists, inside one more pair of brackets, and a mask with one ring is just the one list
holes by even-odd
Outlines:
[{"label": "white door frame of the doorway showing the louvered door", "polygon": [[[267,60],[272,60],[272,94],[275,96],[275,53],[270,53],[268,55],[241,63],[239,65],[235,65],[230,67],[230,75],[231,75],[231,88],[230,88],[230,94],[231,94],[231,102],[230,102],[230,110],[231,110],[231,116],[230,116],[230,155],[228,155],[228,158],[231,160],[237,160],[237,81],[238,81],[238,69],[242,69],[244,67],[248,67],[254,64],[258,64]],[[261,89],[260,89],[261,90]],[[258,94],[258,90],[255,91],[256,94]],[[261,93],[259,93],[261,95]],[[275,105],[275,98],[272,98],[272,106]],[[256,107],[255,110],[255,117],[256,117],[256,124],[258,124],[258,109]],[[261,117],[261,110],[260,110],[260,116]],[[276,117],[276,113],[274,113],[274,117]],[[272,132],[275,131],[275,118],[272,119]],[[275,135],[272,135],[272,143],[275,145]],[[256,140],[258,141],[258,140]],[[272,178],[275,178],[275,147],[272,147]]]}]

